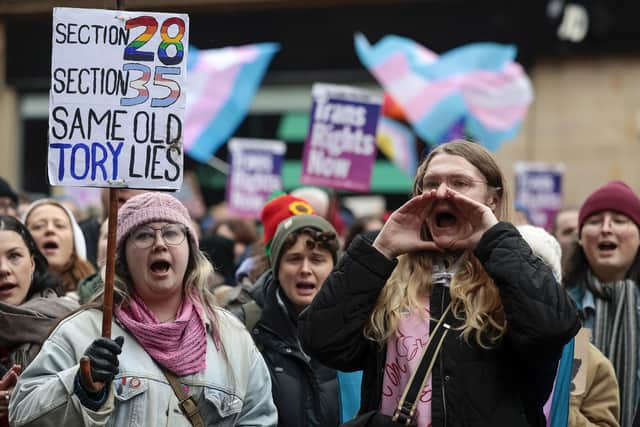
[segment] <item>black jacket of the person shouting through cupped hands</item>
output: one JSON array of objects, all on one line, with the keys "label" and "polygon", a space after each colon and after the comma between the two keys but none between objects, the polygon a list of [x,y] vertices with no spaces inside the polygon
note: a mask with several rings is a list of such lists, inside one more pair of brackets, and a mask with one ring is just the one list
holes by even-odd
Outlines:
[{"label": "black jacket of the person shouting through cupped hands", "polygon": [[[380,408],[386,355],[363,328],[397,264],[372,239],[354,241],[298,323],[304,348],[321,362],[364,370],[361,412]],[[513,225],[488,230],[475,255],[500,290],[508,329],[491,350],[447,336],[432,374],[432,425],[544,426],[542,406],[562,347],[580,328],[575,306]],[[436,287],[430,301],[432,317],[440,317],[448,288]]]}]

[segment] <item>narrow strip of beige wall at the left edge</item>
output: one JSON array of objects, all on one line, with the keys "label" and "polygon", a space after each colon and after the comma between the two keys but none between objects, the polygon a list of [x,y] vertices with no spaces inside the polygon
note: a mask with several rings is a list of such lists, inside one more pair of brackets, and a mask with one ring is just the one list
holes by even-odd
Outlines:
[{"label": "narrow strip of beige wall at the left edge", "polygon": [[14,188],[19,188],[18,106],[15,91],[6,86],[5,64],[5,26],[0,18],[0,176],[9,181]]}]

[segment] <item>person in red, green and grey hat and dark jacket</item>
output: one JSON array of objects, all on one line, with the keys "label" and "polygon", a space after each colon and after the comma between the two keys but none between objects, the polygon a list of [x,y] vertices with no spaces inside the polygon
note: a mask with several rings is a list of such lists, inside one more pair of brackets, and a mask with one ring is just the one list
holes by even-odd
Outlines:
[{"label": "person in red, green and grey hat and dark jacket", "polygon": [[[336,371],[305,354],[297,333],[298,313],[311,303],[338,258],[336,230],[313,212],[306,201],[283,194],[268,201],[261,214],[270,268],[252,289],[261,313],[248,327],[271,372],[280,427],[339,423]],[[251,322],[247,311],[244,315]]]}]

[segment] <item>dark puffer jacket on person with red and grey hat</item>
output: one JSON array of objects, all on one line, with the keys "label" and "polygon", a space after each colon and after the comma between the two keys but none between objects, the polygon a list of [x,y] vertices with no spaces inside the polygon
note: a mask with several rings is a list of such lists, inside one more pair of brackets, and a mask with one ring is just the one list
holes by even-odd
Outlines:
[{"label": "dark puffer jacket on person with red and grey hat", "polygon": [[[336,371],[301,350],[296,315],[271,274],[254,288],[262,291],[263,310],[252,329],[271,373],[273,401],[280,427],[335,427],[339,423]],[[259,295],[254,295],[260,297]]]}]

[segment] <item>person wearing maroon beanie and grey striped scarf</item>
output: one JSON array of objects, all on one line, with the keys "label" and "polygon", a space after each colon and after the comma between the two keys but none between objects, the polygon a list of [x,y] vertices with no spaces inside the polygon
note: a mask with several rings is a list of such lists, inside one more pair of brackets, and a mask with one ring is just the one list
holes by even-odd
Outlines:
[{"label": "person wearing maroon beanie and grey striped scarf", "polygon": [[640,397],[639,226],[640,198],[626,183],[596,189],[580,207],[579,240],[564,280],[594,345],[613,362],[622,426],[631,426]]}]

